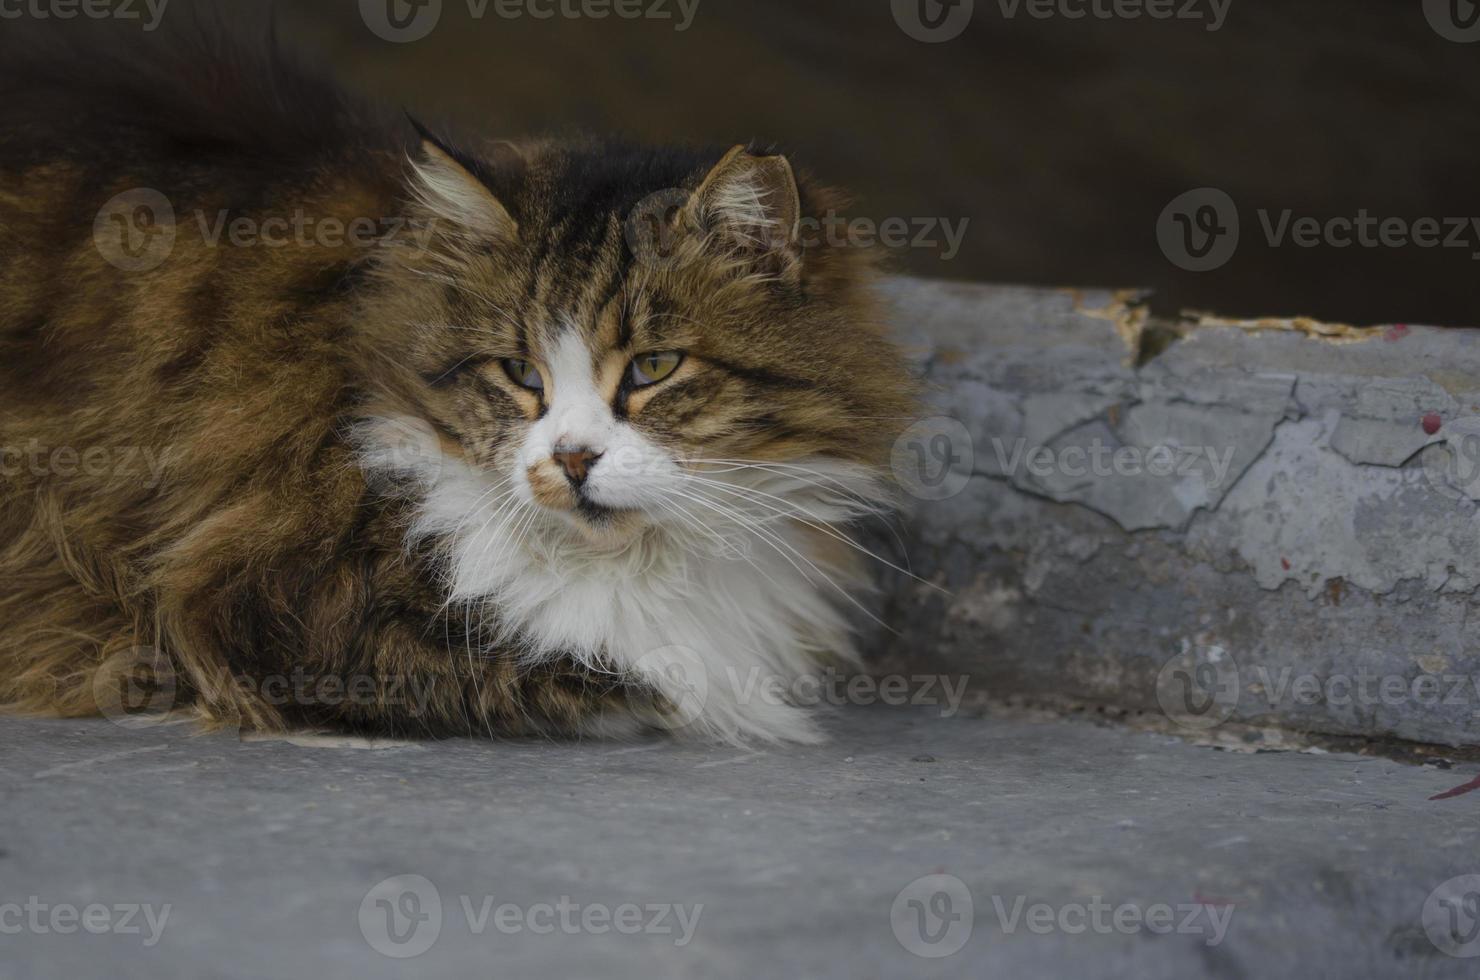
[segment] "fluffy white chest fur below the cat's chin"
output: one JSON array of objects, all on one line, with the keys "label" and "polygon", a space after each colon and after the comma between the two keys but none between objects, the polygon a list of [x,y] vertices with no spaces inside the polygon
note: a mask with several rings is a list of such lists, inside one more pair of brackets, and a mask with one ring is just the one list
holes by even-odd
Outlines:
[{"label": "fluffy white chest fur below the cat's chin", "polygon": [[388,452],[392,431],[404,447],[417,425],[369,423],[363,463],[413,478],[408,533],[444,543],[448,604],[465,613],[469,650],[512,647],[525,662],[565,656],[641,678],[675,705],[651,719],[670,728],[815,737],[790,693],[820,659],[852,657],[850,620],[861,616],[845,592],[850,563],[818,545],[841,546],[833,526],[878,499],[867,471],[827,460],[721,471],[736,493],[704,499],[722,506],[685,512],[675,497],[667,520],[598,548],[524,502],[514,481],[431,446]]}]

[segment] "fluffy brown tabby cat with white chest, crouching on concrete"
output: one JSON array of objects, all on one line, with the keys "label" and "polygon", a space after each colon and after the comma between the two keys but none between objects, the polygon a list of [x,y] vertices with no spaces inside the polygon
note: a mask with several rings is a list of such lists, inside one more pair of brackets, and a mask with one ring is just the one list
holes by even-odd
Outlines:
[{"label": "fluffy brown tabby cat with white chest, crouching on concrete", "polygon": [[215,28],[16,37],[0,705],[818,737],[916,398],[872,252],[799,231],[838,192],[450,136]]}]

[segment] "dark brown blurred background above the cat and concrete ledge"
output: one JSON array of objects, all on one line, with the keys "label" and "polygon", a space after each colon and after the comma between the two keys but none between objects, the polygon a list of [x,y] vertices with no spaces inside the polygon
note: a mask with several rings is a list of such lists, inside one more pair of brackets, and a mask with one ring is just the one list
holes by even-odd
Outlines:
[{"label": "dark brown blurred background above the cat and concrete ledge", "polygon": [[[435,27],[401,43],[369,21],[422,15],[404,0],[277,7],[286,38],[434,118],[774,141],[864,215],[969,219],[952,259],[898,250],[919,275],[1147,286],[1163,312],[1480,324],[1480,43],[1456,40],[1480,15],[1471,0],[1227,0],[1218,30],[1209,0],[1153,0],[1196,19],[1094,15],[1116,0],[1063,0],[1046,19],[1030,13],[1043,0],[699,0],[682,31],[678,0],[619,0],[667,19],[537,19],[518,3],[509,18],[500,1],[475,18],[440,0]],[[922,12],[969,21],[924,43],[901,27]],[[1242,235],[1221,268],[1190,272],[1156,225],[1205,187],[1231,197]],[[1271,246],[1259,209],[1464,219],[1467,237]]]}]

